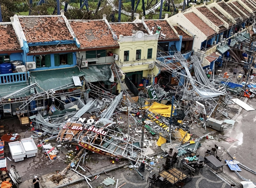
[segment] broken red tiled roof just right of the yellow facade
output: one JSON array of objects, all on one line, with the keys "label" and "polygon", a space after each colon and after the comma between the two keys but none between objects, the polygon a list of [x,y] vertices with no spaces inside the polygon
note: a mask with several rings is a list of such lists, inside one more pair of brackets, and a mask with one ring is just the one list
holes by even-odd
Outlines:
[{"label": "broken red tiled roof just right of the yellow facade", "polygon": [[145,24],[147,24],[150,31],[152,31],[152,27],[154,27],[153,34],[156,33],[157,26],[161,27],[160,32],[165,35],[165,39],[159,37],[158,40],[179,39],[178,35],[176,35],[166,20],[145,20]]}]

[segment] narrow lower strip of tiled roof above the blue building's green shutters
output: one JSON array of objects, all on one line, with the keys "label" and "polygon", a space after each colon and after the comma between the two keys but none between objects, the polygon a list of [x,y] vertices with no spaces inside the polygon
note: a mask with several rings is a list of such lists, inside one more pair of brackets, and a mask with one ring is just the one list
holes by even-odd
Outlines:
[{"label": "narrow lower strip of tiled roof above the blue building's green shutters", "polygon": [[67,51],[67,50],[77,50],[76,44],[59,44],[59,45],[40,45],[40,46],[30,46],[29,53],[42,53],[51,51]]}]

